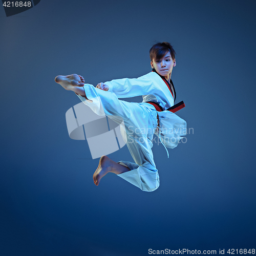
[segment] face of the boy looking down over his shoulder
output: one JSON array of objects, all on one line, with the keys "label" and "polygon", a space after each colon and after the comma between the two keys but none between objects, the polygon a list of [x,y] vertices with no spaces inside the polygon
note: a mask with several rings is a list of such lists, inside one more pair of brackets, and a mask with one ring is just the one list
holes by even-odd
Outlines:
[{"label": "face of the boy looking down over his shoulder", "polygon": [[164,77],[168,77],[169,74],[172,74],[173,67],[176,66],[176,60],[172,59],[170,52],[167,51],[161,59],[153,59],[151,61],[151,67],[156,70],[156,72]]}]

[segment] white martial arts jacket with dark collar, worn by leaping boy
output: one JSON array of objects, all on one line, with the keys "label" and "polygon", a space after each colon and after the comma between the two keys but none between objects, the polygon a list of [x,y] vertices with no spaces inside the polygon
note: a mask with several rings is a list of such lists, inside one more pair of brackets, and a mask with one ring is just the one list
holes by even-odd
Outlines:
[{"label": "white martial arts jacket with dark collar, worn by leaping boy", "polygon": [[147,108],[155,109],[153,105],[146,103],[154,101],[158,103],[163,112],[158,112],[159,129],[156,135],[168,148],[178,145],[180,136],[186,135],[186,122],[176,114],[166,111],[174,105],[174,97],[163,79],[156,73],[150,72],[138,78],[122,78],[105,82],[109,86],[109,92],[116,94],[118,98],[143,96],[143,102]]}]

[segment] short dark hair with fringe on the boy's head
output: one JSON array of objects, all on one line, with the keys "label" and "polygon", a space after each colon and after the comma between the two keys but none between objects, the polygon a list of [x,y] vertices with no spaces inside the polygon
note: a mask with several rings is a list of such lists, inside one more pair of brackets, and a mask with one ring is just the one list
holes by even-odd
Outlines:
[{"label": "short dark hair with fringe on the boy's head", "polygon": [[174,60],[176,52],[169,42],[158,42],[157,44],[153,45],[150,49],[151,61],[153,61],[153,59],[161,59],[167,51],[170,52],[170,56],[172,56],[172,59]]}]

